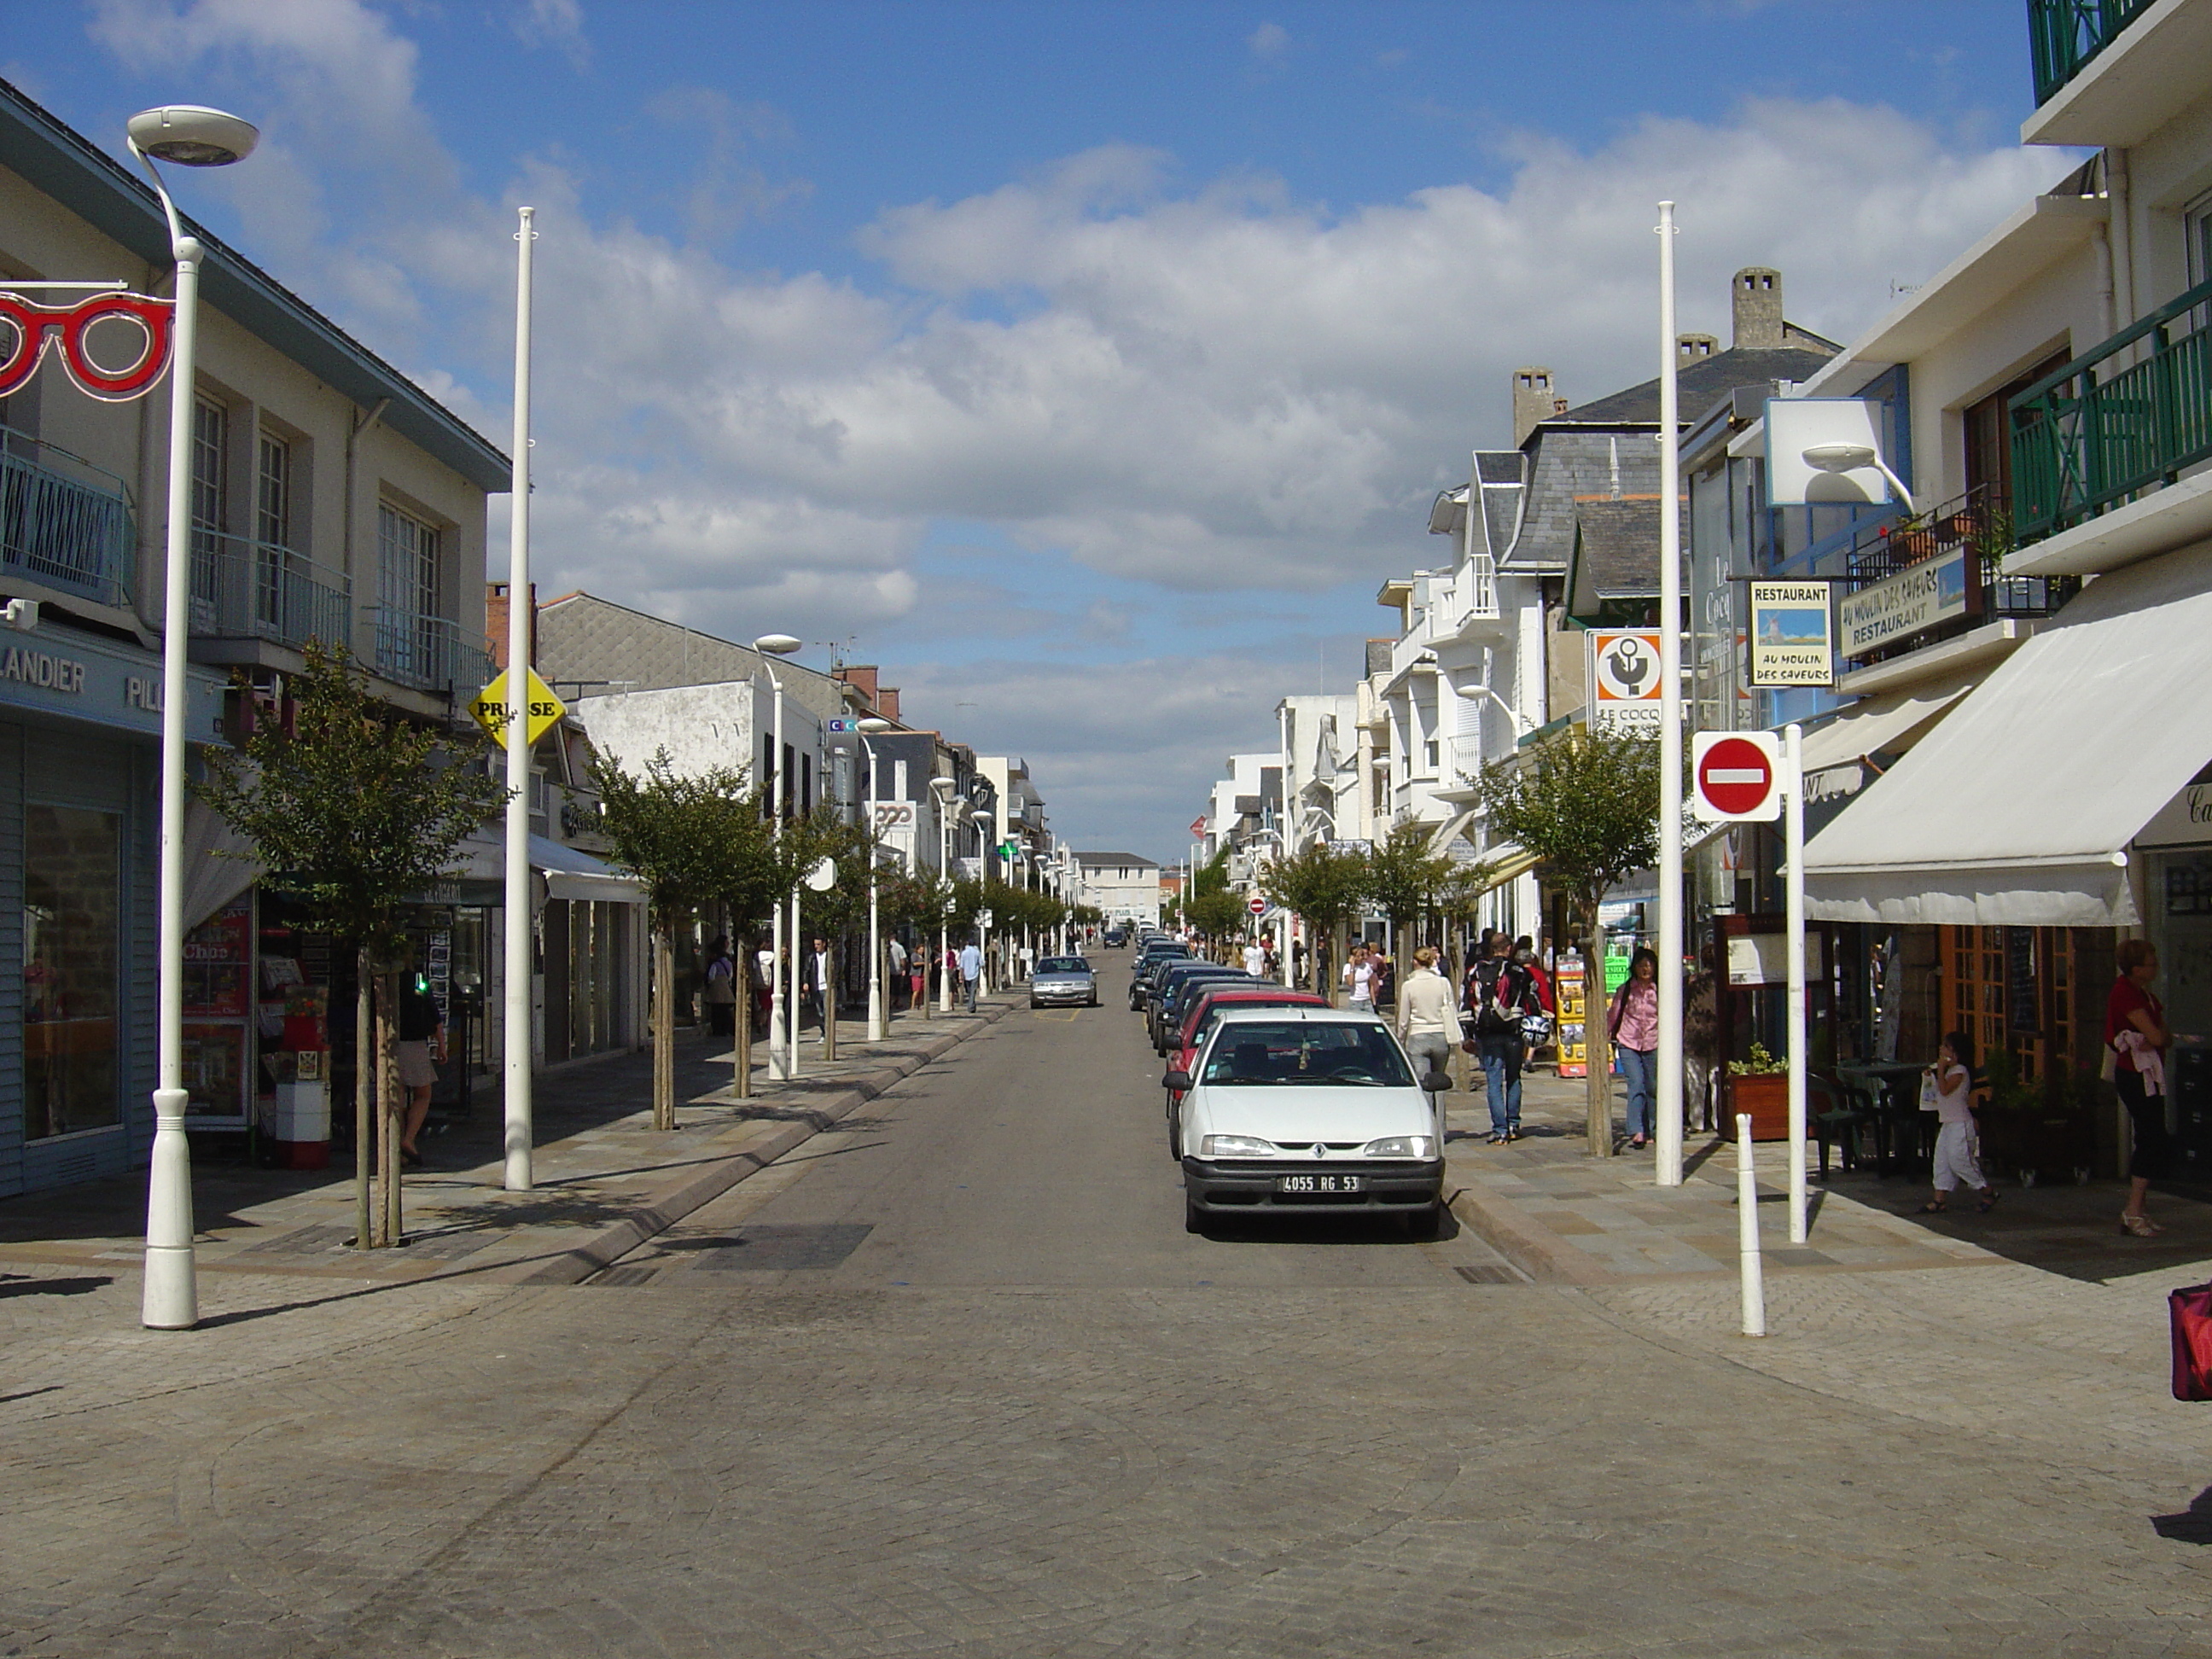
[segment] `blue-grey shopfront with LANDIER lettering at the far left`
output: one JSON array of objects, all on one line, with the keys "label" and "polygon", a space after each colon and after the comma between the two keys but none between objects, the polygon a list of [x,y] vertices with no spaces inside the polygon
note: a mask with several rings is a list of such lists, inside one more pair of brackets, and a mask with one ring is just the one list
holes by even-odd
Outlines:
[{"label": "blue-grey shopfront with LANDIER lettering at the far left", "polygon": [[[155,1082],[161,659],[46,622],[0,635],[0,1197],[146,1161]],[[221,734],[192,672],[188,732]],[[201,995],[226,1009],[219,964]],[[226,1013],[243,1020],[241,1013]],[[234,1053],[234,1048],[230,1051]],[[228,1091],[226,1051],[201,1053]]]}]

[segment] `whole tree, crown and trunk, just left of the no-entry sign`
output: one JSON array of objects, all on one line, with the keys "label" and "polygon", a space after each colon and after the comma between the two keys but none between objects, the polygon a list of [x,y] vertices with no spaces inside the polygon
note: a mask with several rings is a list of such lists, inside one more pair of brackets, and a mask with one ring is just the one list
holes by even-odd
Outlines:
[{"label": "whole tree, crown and trunk, just left of the no-entry sign", "polygon": [[1582,920],[1590,1155],[1610,1157],[1613,1048],[1599,1006],[1606,960],[1597,907],[1626,874],[1659,858],[1659,743],[1568,728],[1517,765],[1484,772],[1482,805],[1491,830],[1533,852]]}]

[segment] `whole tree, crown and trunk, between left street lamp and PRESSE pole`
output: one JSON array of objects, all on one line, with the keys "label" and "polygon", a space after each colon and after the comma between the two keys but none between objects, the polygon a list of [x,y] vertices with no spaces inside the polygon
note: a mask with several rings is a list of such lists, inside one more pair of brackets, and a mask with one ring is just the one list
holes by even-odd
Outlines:
[{"label": "whole tree, crown and trunk, between left street lamp and PRESSE pole", "polygon": [[[358,1248],[400,1241],[400,1110],[392,1086],[398,951],[407,914],[453,869],[460,843],[507,799],[482,770],[484,741],[411,726],[361,684],[345,648],[307,641],[290,730],[263,726],[246,752],[206,752],[192,785],[254,845],[270,887],[307,927],[354,947],[354,1221]],[[372,1037],[374,1031],[374,1037]],[[529,1042],[529,1033],[509,1033]],[[372,1091],[374,1084],[374,1091]],[[383,1203],[372,1217],[372,1097]]]}]

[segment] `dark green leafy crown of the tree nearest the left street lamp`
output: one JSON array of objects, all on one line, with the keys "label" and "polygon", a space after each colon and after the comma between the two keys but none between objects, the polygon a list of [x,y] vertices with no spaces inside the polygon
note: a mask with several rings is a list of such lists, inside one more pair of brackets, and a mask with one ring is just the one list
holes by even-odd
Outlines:
[{"label": "dark green leafy crown of the tree nearest the left street lamp", "polygon": [[307,927],[389,960],[407,909],[451,876],[507,790],[476,765],[484,739],[398,719],[343,646],[310,641],[292,695],[292,732],[263,728],[243,754],[208,750],[195,794],[254,843]]}]

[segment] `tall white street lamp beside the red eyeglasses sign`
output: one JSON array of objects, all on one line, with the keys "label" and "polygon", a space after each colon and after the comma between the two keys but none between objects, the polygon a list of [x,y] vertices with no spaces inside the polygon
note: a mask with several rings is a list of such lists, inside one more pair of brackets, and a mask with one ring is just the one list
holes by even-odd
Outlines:
[{"label": "tall white street lamp beside the red eyeglasses sign", "polygon": [[[146,1287],[139,1323],[184,1332],[199,1323],[199,1274],[192,1254],[192,1150],[184,1137],[184,721],[190,712],[188,648],[192,639],[192,396],[199,372],[197,237],[184,234],[155,159],[184,168],[221,168],[254,153],[252,122],[219,108],[173,104],[139,111],[128,126],[131,155],[146,166],[168,219],[177,261],[175,347],[168,365],[168,535],[161,568],[161,887],[159,1004],[153,1091],[153,1152],[146,1170]],[[354,1157],[367,1157],[356,1148]]]}]

